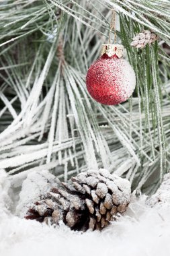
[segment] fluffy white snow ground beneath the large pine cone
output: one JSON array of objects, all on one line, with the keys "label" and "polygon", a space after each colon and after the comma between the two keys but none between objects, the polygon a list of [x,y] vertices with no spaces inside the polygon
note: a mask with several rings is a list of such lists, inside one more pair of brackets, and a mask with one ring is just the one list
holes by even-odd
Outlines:
[{"label": "fluffy white snow ground beneath the large pine cone", "polygon": [[[1,256],[169,256],[170,202],[169,185],[146,205],[146,197],[134,199],[128,211],[102,232],[73,232],[24,220],[8,210],[10,179],[0,170],[0,255]],[[23,191],[22,191],[23,195]],[[13,197],[15,198],[15,197]],[[161,203],[157,203],[160,201]],[[159,200],[158,200],[159,199]],[[21,206],[20,206],[21,207]],[[21,209],[21,208],[20,208]]]}]

